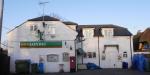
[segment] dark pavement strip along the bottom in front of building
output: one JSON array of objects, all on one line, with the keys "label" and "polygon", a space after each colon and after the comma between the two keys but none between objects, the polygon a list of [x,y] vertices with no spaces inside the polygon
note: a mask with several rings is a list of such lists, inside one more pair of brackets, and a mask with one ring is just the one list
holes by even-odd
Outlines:
[{"label": "dark pavement strip along the bottom in front of building", "polygon": [[150,72],[141,72],[131,69],[101,69],[101,70],[98,69],[98,70],[80,70],[74,73],[65,72],[65,73],[47,73],[47,74],[29,74],[29,75],[150,75]]}]

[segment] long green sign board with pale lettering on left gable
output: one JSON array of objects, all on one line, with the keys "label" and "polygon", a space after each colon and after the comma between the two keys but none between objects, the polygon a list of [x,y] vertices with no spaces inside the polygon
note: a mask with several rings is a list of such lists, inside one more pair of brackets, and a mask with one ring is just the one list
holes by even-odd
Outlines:
[{"label": "long green sign board with pale lettering on left gable", "polygon": [[62,41],[23,41],[20,48],[62,48]]}]

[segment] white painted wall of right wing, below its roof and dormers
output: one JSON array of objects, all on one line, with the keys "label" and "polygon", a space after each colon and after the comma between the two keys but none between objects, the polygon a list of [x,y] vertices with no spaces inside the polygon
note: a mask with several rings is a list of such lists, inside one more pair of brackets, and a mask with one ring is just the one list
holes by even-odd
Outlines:
[{"label": "white painted wall of right wing, below its roof and dormers", "polygon": [[[130,39],[131,39],[131,43],[130,43]],[[104,45],[116,45],[116,44],[119,45],[119,53],[116,53],[116,54],[123,56],[123,52],[126,51],[128,57],[122,58],[122,60],[118,60],[118,62],[116,62],[117,65],[115,66],[115,68],[122,68],[123,61],[128,62],[128,67],[131,67],[131,53],[133,53],[133,44],[132,44],[132,37],[130,38],[130,36],[113,36],[110,38],[99,37],[99,50],[100,51],[98,51],[98,37],[85,38],[85,41],[83,41],[83,50],[85,52],[95,51],[96,58],[84,58],[83,62],[84,63],[91,62],[91,63],[95,63],[96,65],[99,65],[99,60],[100,60],[100,67],[109,68],[108,64],[110,64],[110,62],[104,61],[101,59],[102,51],[104,50]],[[131,44],[131,47],[130,47],[130,44]],[[107,49],[108,48],[106,48],[106,50]],[[98,56],[98,54],[100,54],[100,57]]]}]

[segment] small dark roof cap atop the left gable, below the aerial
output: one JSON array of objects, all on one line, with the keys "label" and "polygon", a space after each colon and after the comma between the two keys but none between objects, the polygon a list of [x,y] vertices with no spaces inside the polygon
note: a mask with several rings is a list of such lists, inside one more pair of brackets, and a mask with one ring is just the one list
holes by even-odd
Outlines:
[{"label": "small dark roof cap atop the left gable, below the aerial", "polygon": [[59,19],[51,16],[40,16],[37,18],[29,19],[28,21],[43,21],[43,17],[44,17],[44,21],[60,21]]}]

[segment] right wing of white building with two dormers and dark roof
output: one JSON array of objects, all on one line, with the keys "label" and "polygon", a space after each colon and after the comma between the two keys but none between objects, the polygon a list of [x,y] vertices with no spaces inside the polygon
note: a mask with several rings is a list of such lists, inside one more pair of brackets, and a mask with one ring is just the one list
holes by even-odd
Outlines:
[{"label": "right wing of white building with two dormers and dark roof", "polygon": [[94,63],[101,68],[131,67],[132,34],[117,25],[78,25],[78,64]]}]

